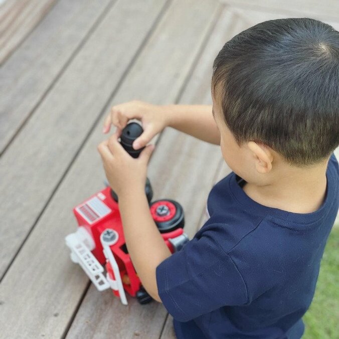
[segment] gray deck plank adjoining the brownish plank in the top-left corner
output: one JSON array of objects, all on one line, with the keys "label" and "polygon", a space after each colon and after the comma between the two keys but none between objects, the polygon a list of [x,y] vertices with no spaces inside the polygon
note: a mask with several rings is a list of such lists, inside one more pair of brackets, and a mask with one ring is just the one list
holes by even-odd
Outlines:
[{"label": "gray deck plank adjoining the brownish plank in the top-left corner", "polygon": [[60,0],[0,68],[0,155],[113,3]]}]

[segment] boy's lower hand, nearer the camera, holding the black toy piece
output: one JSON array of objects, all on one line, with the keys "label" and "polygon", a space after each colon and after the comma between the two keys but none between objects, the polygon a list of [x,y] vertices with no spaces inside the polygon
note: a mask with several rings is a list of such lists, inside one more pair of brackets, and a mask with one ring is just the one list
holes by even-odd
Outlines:
[{"label": "boy's lower hand, nearer the camera, holding the black toy piece", "polygon": [[131,194],[137,189],[145,189],[147,163],[154,145],[146,146],[138,158],[133,158],[121,146],[118,138],[121,129],[98,145],[107,180],[117,196]]}]

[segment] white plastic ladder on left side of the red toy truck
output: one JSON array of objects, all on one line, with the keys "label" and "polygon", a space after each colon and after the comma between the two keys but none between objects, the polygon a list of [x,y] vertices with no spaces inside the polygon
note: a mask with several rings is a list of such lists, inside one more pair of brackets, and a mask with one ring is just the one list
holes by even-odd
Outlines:
[{"label": "white plastic ladder on left side of the red toy truck", "polygon": [[[79,231],[80,228],[83,230]],[[71,233],[65,238],[66,245],[71,249],[72,261],[82,267],[99,291],[103,291],[110,288],[110,283],[102,273],[104,268],[90,251],[90,248],[93,249],[95,247],[94,241],[91,238],[91,243],[84,232],[91,238],[84,227],[79,227],[77,232]],[[90,247],[87,247],[87,244]]]}]

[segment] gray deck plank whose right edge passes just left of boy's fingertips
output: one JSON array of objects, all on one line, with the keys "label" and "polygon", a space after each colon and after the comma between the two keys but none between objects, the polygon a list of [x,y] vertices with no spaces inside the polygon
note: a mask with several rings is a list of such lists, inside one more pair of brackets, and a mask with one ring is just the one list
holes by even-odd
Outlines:
[{"label": "gray deck plank whose right edge passes just left of boy's fingertips", "polygon": [[116,3],[0,158],[4,221],[0,276],[138,53],[163,4],[164,0]]}]

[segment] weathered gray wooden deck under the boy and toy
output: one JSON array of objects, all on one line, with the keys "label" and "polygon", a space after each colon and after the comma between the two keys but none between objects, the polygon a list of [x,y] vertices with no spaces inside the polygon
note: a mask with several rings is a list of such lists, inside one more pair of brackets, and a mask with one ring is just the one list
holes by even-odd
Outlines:
[{"label": "weathered gray wooden deck under the boy and toy", "polygon": [[[103,117],[132,99],[211,104],[212,63],[256,23],[312,17],[335,0],[7,0],[0,6],[0,337],[174,338],[162,304],[98,292],[64,243],[72,208],[103,188]],[[287,5],[288,3],[288,5]],[[154,198],[179,201],[192,238],[229,170],[218,146],[166,128]]]}]

